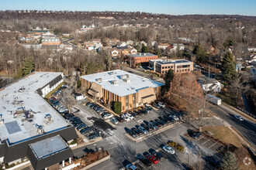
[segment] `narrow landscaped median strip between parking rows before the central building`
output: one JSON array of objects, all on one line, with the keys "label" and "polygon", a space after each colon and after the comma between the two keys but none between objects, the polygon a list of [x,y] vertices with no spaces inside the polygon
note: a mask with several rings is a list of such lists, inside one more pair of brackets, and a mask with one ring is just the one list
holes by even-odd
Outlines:
[{"label": "narrow landscaped median strip between parking rows before the central building", "polygon": [[168,130],[169,128],[172,128],[172,127],[174,127],[175,125],[178,125],[178,124],[181,124],[181,122],[178,121],[178,122],[175,122],[174,124],[169,124],[169,125],[167,125],[167,126],[164,127],[164,128],[158,129],[157,131],[150,132],[150,134],[141,136],[141,137],[139,137],[139,138],[133,138],[133,137],[130,136],[130,134],[127,134],[127,133],[126,133],[125,135],[126,135],[127,138],[130,138],[130,140],[132,140],[132,141],[134,141],[134,142],[137,143],[137,142],[140,142],[140,141],[144,141],[144,140],[146,140],[147,138],[150,138],[150,137],[154,136],[155,134],[159,134],[159,133],[161,133],[161,132],[163,132],[163,131],[166,131],[166,130]]}]

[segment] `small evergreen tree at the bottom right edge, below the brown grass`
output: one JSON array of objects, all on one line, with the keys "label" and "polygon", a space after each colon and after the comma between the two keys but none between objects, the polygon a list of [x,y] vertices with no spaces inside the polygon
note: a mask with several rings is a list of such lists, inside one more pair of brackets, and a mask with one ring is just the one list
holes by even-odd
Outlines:
[{"label": "small evergreen tree at the bottom right edge, below the brown grass", "polygon": [[240,166],[238,165],[238,161],[234,153],[231,151],[227,151],[223,156],[223,163],[221,164],[221,168],[223,170],[239,170]]}]

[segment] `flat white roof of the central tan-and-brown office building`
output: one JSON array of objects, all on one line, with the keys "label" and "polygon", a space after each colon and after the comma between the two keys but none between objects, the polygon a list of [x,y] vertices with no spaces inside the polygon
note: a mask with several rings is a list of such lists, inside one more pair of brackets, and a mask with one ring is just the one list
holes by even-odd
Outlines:
[{"label": "flat white roof of the central tan-and-brown office building", "polygon": [[[111,75],[111,72],[113,73]],[[121,76],[128,74],[131,80],[130,83],[126,83],[125,80],[121,79]],[[95,73],[90,75],[81,76],[82,79],[88,80],[89,82],[95,82],[102,85],[103,89],[109,90],[111,93],[115,93],[119,97],[127,96],[132,93],[137,93],[138,90],[147,87],[160,87],[164,83],[159,83],[154,80],[149,80],[143,76],[137,76],[133,73],[128,73],[123,70],[112,70],[103,73]],[[99,83],[96,79],[102,78],[102,82]],[[112,84],[112,81],[117,81],[116,84]]]}]

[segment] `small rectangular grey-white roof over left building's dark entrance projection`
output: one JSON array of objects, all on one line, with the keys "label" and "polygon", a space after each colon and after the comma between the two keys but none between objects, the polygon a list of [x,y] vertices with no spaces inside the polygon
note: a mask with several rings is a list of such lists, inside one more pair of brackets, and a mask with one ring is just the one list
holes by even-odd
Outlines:
[{"label": "small rectangular grey-white roof over left building's dark entrance projection", "polygon": [[45,158],[47,156],[56,154],[60,151],[64,151],[68,148],[67,143],[57,135],[51,138],[44,139],[42,141],[37,141],[30,144],[34,155],[37,159]]}]

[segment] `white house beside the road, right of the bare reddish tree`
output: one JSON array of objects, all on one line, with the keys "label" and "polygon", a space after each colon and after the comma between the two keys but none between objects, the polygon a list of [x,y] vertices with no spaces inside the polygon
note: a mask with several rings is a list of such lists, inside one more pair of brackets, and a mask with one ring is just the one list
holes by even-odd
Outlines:
[{"label": "white house beside the road, right of the bare reddish tree", "polygon": [[220,92],[220,90],[224,87],[222,83],[217,81],[216,79],[209,78],[208,76],[202,76],[199,78],[198,83],[200,83],[202,90],[209,92]]}]

